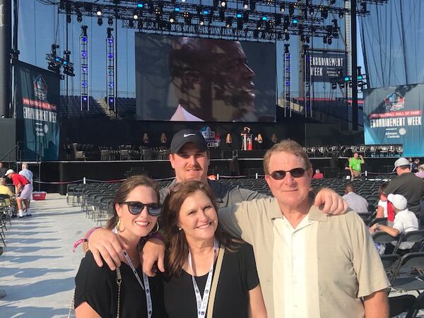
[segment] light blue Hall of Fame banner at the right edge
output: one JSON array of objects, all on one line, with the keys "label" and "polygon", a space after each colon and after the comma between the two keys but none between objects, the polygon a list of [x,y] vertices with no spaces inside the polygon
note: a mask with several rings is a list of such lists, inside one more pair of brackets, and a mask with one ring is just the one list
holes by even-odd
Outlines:
[{"label": "light blue Hall of Fame banner at the right edge", "polygon": [[424,155],[424,85],[376,88],[365,92],[365,144],[404,145],[404,155]]}]

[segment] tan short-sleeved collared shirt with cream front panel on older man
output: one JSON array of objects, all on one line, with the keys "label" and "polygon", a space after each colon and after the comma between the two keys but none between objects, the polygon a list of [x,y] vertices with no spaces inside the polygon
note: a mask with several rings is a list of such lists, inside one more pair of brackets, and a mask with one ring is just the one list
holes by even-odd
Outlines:
[{"label": "tan short-sleeved collared shirt with cream front panel on older man", "polygon": [[[280,225],[276,223],[284,219],[276,199],[245,201],[223,208],[219,211],[219,218],[225,230],[254,248],[268,317],[285,317],[276,316],[275,311],[286,314],[285,293],[292,293],[293,289],[285,292],[286,288],[275,288],[275,284],[285,283],[279,280],[286,279],[285,273],[274,270],[278,264],[274,264],[273,259],[286,257],[274,254],[276,249],[282,248],[279,246],[281,238],[276,237],[275,231]],[[305,301],[308,317],[365,317],[360,298],[389,286],[365,223],[354,211],[342,216],[328,216],[314,206],[307,218],[317,224],[315,232],[305,233],[303,243],[307,253],[305,281],[308,296]],[[316,284],[313,279],[317,279]],[[290,284],[292,288],[293,284]],[[319,312],[314,312],[316,310]]]}]

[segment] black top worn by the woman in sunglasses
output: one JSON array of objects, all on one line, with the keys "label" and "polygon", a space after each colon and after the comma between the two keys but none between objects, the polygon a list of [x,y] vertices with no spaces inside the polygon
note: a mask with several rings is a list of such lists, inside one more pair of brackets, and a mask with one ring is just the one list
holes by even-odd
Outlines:
[{"label": "black top worn by the woman in sunglasses", "polygon": [[[121,267],[120,317],[148,317],[146,294],[131,268],[122,263]],[[141,267],[136,269],[143,282]],[[117,273],[107,265],[98,267],[93,254],[87,252],[75,278],[75,307],[88,302],[102,318],[117,317],[118,286]],[[160,278],[149,278],[153,305],[152,317],[165,317],[163,307],[163,288]]]}]

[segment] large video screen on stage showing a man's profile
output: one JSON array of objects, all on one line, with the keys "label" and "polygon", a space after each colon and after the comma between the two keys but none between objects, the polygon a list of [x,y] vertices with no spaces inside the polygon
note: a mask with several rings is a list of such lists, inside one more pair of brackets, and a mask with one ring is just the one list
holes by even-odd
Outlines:
[{"label": "large video screen on stage showing a man's profile", "polygon": [[273,43],[136,33],[139,120],[273,122]]}]

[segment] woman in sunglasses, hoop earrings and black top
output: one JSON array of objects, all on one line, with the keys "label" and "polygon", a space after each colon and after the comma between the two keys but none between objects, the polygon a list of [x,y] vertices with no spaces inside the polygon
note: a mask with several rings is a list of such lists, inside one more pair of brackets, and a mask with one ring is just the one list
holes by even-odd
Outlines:
[{"label": "woman in sunglasses, hoop earrings and black top", "polygon": [[129,248],[117,271],[98,267],[87,252],[75,278],[76,317],[164,317],[159,278],[141,271],[140,240],[158,230],[158,185],[144,176],[129,177],[114,197],[114,216],[107,229],[116,232]]}]

